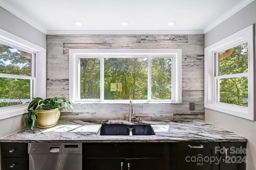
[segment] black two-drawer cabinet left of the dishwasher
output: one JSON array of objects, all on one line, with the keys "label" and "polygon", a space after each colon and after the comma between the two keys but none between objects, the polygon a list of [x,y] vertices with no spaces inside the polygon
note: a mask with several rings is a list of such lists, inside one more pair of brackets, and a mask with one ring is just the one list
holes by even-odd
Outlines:
[{"label": "black two-drawer cabinet left of the dishwasher", "polygon": [[1,170],[28,170],[28,144],[1,143]]}]

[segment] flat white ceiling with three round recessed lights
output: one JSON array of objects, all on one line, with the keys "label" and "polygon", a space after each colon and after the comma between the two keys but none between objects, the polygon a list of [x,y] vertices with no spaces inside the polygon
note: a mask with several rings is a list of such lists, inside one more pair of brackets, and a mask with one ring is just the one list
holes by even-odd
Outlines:
[{"label": "flat white ceiling with three round recessed lights", "polygon": [[[45,34],[88,32],[206,33],[253,0],[0,0]],[[77,26],[74,21],[84,23]],[[167,26],[169,21],[176,21]],[[121,21],[128,21],[126,27]]]}]

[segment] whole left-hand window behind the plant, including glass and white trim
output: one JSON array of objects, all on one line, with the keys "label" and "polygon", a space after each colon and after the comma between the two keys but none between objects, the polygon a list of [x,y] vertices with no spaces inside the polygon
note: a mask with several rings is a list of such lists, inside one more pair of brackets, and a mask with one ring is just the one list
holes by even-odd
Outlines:
[{"label": "whole left-hand window behind the plant, including glass and white trim", "polygon": [[0,119],[27,113],[46,97],[46,49],[0,29]]}]

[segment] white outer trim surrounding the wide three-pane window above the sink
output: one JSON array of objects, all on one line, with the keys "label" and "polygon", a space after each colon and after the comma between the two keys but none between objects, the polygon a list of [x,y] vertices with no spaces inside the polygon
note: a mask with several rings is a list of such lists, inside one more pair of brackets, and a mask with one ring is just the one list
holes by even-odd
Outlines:
[{"label": "white outer trim surrounding the wide three-pane window above the sink", "polygon": [[[81,55],[170,55],[177,53],[174,57],[174,77],[173,92],[174,102],[182,102],[182,50],[181,49],[70,49],[69,50],[69,97],[71,102],[81,102],[78,100],[78,60]],[[88,101],[92,102],[92,101]],[[98,102],[98,101],[95,101]],[[116,102],[110,100],[108,102]],[[126,102],[126,101],[124,101]],[[152,102],[152,101],[150,101]],[[149,103],[150,103],[149,102]],[[159,101],[160,102],[160,101]],[[104,100],[106,103],[106,100]]]}]

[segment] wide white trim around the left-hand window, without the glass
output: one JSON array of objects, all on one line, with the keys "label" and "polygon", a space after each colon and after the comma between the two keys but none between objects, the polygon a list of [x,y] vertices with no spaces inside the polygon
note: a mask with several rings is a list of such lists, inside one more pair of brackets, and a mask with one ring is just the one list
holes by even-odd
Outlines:
[{"label": "wide white trim around the left-hand window, without the glass", "polygon": [[[46,49],[16,35],[13,35],[12,33],[9,33],[3,29],[0,29],[0,42],[5,45],[23,49],[24,51],[36,54],[34,67],[35,70],[32,71],[34,72],[34,75],[32,75],[34,76],[32,78],[32,81],[34,81],[32,96],[46,98]],[[27,109],[28,104],[2,107],[0,108],[0,120],[28,113]]]}]

